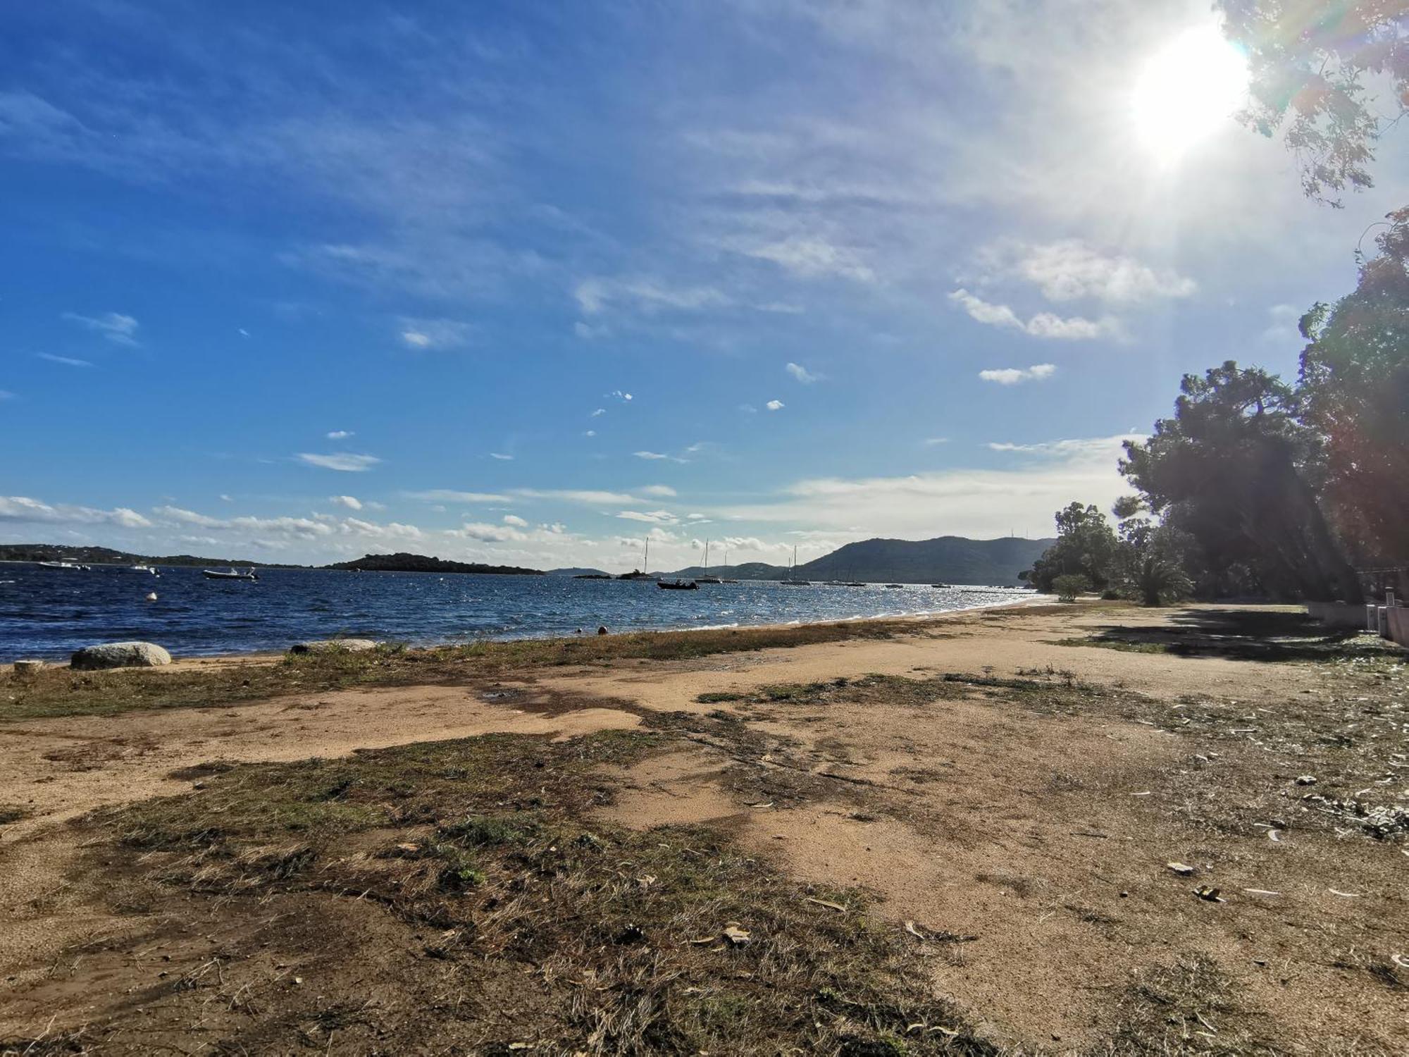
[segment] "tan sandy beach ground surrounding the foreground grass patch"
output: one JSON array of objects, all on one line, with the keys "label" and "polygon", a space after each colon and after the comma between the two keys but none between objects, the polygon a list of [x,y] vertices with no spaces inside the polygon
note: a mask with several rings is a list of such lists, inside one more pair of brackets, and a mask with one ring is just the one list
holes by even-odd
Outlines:
[{"label": "tan sandy beach ground surrounding the foreground grass patch", "polygon": [[[85,678],[228,676],[271,664]],[[14,706],[24,691],[7,678]],[[681,660],[492,672],[465,662],[462,678],[290,688],[213,707],[14,719],[0,703],[0,806],[10,809],[0,827],[0,1040],[104,1053],[395,1051],[389,1039],[421,1001],[417,988],[434,977],[437,994],[452,989],[454,957],[427,960],[427,936],[468,926],[444,910],[411,915],[390,894],[349,901],[354,882],[330,878],[351,871],[375,894],[390,882],[366,877],[397,861],[380,848],[418,848],[428,826],[444,833],[435,816],[396,806],[414,793],[352,796],[355,824],[324,833],[323,822],[285,820],[283,836],[249,836],[216,855],[240,832],[220,823],[228,805],[209,823],[224,836],[186,848],[135,840],[135,819],[170,810],[144,805],[175,803],[204,817],[225,784],[259,768],[318,758],[361,789],[359,761],[380,760],[376,751],[510,744],[568,760],[562,774],[581,779],[572,789],[582,801],[555,801],[545,784],[540,805],[504,792],[490,809],[561,812],[554,817],[595,834],[623,834],[621,847],[644,834],[697,848],[713,834],[810,899],[802,909],[823,917],[816,927],[883,933],[903,971],[952,1009],[944,1030],[885,1027],[879,1015],[843,1009],[837,1037],[895,1036],[909,1046],[895,1053],[960,1043],[1107,1053],[1136,1034],[1177,1051],[1402,1051],[1406,703],[1402,651],[1327,637],[1295,610],[1127,605],[961,613],[885,637]],[[621,758],[589,748],[623,738],[635,741]],[[521,779],[510,769],[504,791]],[[256,878],[252,867],[227,877],[231,860],[249,867],[276,844],[313,848],[321,881]],[[488,936],[506,899],[489,892],[509,867],[476,854],[483,889],[454,899],[473,903],[465,920]],[[638,895],[637,870],[620,868]],[[664,884],[650,877],[645,891]],[[545,899],[537,913],[554,906]],[[271,930],[265,910],[275,908],[306,925],[334,915],[341,953],[292,925]],[[683,926],[643,927],[662,960],[657,972],[669,958],[693,964],[699,937]],[[754,958],[783,943],[758,927],[741,947]],[[590,996],[564,991],[555,981],[566,971],[547,954],[466,940],[455,957],[507,958],[514,972],[537,974],[538,998],[524,999],[517,1034],[479,1009],[458,1027],[403,1037],[407,1050],[637,1051],[619,1037],[609,1046],[610,1034],[575,1034],[581,1018],[562,1010]],[[200,971],[210,964],[218,972]],[[602,995],[626,987],[593,971]],[[290,989],[294,972],[317,996]],[[309,1027],[314,1008],[364,992],[379,1013]],[[669,1001],[692,994],[679,982]]]}]

